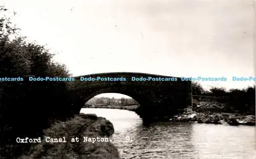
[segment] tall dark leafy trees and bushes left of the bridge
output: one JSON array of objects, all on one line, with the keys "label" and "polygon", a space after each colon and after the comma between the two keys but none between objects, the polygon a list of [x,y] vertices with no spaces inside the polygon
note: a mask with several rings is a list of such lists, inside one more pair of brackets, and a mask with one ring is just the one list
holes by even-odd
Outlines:
[{"label": "tall dark leafy trees and bushes left of the bridge", "polygon": [[[52,60],[54,54],[18,35],[6,13],[0,6],[0,77],[69,77],[66,66]],[[10,154],[17,156],[30,148],[18,146],[17,136],[36,138],[53,119],[72,117],[74,101],[65,81],[1,81],[0,157],[11,158]]]}]

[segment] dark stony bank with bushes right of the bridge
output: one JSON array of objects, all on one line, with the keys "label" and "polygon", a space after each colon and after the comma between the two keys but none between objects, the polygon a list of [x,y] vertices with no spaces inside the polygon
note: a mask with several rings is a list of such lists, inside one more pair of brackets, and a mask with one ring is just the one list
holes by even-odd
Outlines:
[{"label": "dark stony bank with bushes right of the bridge", "polygon": [[194,82],[193,95],[193,105],[171,121],[255,125],[255,85],[229,90],[212,87],[206,91]]}]

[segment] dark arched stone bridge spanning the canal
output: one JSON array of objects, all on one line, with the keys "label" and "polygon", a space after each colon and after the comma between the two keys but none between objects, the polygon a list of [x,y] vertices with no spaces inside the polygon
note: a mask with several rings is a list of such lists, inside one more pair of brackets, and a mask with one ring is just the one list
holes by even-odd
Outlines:
[{"label": "dark arched stone bridge spanning the canal", "polygon": [[79,113],[88,100],[103,93],[120,93],[132,97],[140,104],[136,113],[144,121],[168,119],[183,111],[192,101],[191,82],[181,81],[178,77],[120,72],[74,78],[74,94],[80,101],[75,104],[75,113]]}]

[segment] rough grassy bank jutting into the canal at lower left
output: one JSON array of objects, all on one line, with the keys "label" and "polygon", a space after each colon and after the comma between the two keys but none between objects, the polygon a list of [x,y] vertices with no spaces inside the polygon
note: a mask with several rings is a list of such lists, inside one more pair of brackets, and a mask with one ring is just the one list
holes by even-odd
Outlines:
[{"label": "rough grassy bank jutting into the canal at lower left", "polygon": [[[83,137],[108,138],[114,133],[111,122],[96,115],[80,115],[66,122],[56,122],[50,128],[44,130],[41,143],[35,143],[29,152],[24,153],[19,159],[34,158],[119,158],[117,148],[111,142],[84,142]],[[66,143],[47,142],[46,137],[66,138]],[[72,138],[78,138],[79,142],[71,142]],[[63,140],[62,140],[63,141]],[[26,144],[26,143],[23,143]]]}]

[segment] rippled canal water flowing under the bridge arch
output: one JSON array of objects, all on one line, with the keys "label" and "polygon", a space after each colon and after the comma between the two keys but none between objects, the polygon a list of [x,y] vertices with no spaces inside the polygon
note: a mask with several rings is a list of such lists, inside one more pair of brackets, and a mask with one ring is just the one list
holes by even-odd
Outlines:
[{"label": "rippled canal water flowing under the bridge arch", "polygon": [[96,113],[113,123],[112,140],[121,158],[255,158],[255,127],[191,123],[143,126],[132,111],[83,108],[81,112]]}]

